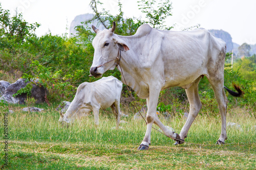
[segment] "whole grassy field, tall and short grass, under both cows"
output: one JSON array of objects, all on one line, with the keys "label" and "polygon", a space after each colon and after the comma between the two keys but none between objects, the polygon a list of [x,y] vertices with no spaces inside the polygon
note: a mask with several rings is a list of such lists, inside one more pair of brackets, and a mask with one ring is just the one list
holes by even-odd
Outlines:
[{"label": "whole grassy field, tall and short grass, under both cows", "polygon": [[[229,110],[227,116],[227,122],[241,125],[241,128],[227,128],[226,143],[233,144],[199,146],[185,143],[175,146],[174,140],[153,130],[149,150],[138,151],[146,126],[143,120],[134,120],[134,114],[122,117],[126,123],[121,124],[119,130],[113,128],[115,119],[109,110],[101,112],[98,127],[94,126],[91,114],[65,128],[58,123],[59,113],[53,107],[43,106],[43,112],[23,112],[18,110],[20,107],[9,106],[14,112],[8,114],[7,166],[3,159],[5,145],[1,142],[2,168],[256,169],[256,120],[243,109]],[[4,120],[3,115],[1,120]],[[177,133],[185,123],[181,116],[169,120],[161,117],[161,120]],[[215,144],[220,126],[220,116],[198,115],[186,141]]]}]

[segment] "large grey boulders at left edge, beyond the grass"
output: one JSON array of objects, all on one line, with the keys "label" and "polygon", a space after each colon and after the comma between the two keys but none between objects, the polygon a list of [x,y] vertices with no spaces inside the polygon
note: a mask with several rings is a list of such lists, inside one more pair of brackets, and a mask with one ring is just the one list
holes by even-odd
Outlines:
[{"label": "large grey boulders at left edge, beyond the grass", "polygon": [[[24,104],[27,99],[27,94],[22,93],[17,96],[13,96],[13,94],[17,93],[17,91],[21,88],[27,86],[30,82],[26,82],[26,79],[18,79],[15,83],[10,84],[9,82],[0,81],[0,100],[4,100],[7,103],[12,104]],[[31,97],[36,100],[36,103],[45,102],[45,95],[47,89],[38,85],[38,80],[33,81]]]}]

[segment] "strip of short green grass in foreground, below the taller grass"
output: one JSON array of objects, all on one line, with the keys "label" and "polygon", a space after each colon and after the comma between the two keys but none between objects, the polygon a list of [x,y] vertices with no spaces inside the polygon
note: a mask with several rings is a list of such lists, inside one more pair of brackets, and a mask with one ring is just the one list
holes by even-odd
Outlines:
[{"label": "strip of short green grass in foreground, below the taller grass", "polygon": [[[255,144],[214,147],[12,141],[10,169],[255,168]],[[237,150],[241,148],[240,150]]]}]

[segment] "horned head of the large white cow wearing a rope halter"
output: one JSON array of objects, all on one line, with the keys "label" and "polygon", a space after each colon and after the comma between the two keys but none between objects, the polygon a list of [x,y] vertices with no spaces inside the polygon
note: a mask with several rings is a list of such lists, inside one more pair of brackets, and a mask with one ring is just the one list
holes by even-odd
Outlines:
[{"label": "horned head of the large white cow wearing a rope halter", "polygon": [[94,57],[90,74],[99,78],[105,71],[115,68],[118,62],[119,49],[126,52],[129,50],[129,47],[123,40],[114,34],[116,28],[115,21],[110,30],[105,29],[100,31],[94,26],[92,26],[92,28],[97,35],[93,39]]}]

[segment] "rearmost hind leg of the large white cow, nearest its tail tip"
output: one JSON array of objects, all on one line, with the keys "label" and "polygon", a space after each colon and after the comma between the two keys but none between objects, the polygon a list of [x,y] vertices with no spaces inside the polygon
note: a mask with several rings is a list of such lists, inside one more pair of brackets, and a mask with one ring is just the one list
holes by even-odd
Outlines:
[{"label": "rearmost hind leg of the large white cow, nearest its tail tip", "polygon": [[221,135],[219,140],[216,144],[224,144],[225,140],[227,139],[227,132],[226,132],[226,114],[227,114],[227,97],[224,91],[224,80],[215,81],[208,79],[212,89],[214,89],[215,98],[218,102],[219,111],[221,114]]}]

